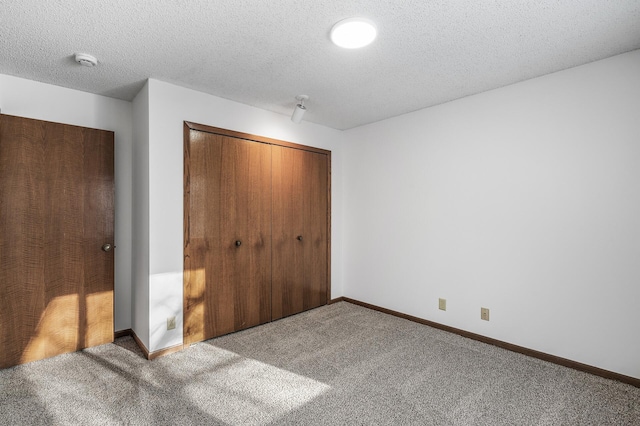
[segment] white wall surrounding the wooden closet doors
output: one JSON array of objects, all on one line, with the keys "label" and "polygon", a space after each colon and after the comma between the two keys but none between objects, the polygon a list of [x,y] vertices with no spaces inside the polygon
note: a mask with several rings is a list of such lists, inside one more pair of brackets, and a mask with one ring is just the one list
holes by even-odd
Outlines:
[{"label": "white wall surrounding the wooden closet doors", "polygon": [[[331,297],[341,296],[343,132],[306,122],[296,125],[288,116],[153,79],[148,87],[149,350],[182,343],[184,121],[332,151]],[[167,331],[166,319],[173,315],[177,317],[177,327]]]}]

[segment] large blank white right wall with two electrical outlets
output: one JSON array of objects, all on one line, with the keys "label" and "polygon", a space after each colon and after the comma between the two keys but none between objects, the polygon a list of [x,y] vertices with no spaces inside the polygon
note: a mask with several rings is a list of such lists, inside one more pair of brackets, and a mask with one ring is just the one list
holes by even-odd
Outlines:
[{"label": "large blank white right wall with two electrical outlets", "polygon": [[346,134],[345,296],[640,378],[640,51]]}]

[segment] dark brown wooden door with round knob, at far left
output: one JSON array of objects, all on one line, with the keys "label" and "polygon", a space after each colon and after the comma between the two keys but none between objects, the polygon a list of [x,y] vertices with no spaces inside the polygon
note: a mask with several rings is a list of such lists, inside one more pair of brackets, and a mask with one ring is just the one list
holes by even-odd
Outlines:
[{"label": "dark brown wooden door with round knob, at far left", "polygon": [[113,139],[0,115],[0,368],[113,341]]}]

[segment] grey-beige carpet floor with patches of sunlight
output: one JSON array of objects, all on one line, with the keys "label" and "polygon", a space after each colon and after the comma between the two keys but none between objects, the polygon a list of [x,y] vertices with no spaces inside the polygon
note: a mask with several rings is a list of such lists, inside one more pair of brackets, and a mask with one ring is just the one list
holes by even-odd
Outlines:
[{"label": "grey-beige carpet floor with patches of sunlight", "polygon": [[640,425],[640,389],[346,302],[0,370],[0,425]]}]

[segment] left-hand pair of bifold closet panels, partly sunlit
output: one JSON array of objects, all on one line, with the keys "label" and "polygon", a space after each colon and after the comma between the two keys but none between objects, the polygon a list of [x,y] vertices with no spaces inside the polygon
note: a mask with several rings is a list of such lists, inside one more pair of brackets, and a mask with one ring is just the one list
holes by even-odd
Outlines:
[{"label": "left-hand pair of bifold closet panels, partly sunlit", "polygon": [[271,149],[189,132],[185,344],[271,320]]}]

